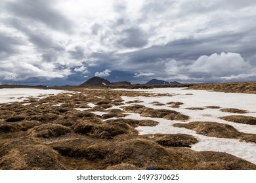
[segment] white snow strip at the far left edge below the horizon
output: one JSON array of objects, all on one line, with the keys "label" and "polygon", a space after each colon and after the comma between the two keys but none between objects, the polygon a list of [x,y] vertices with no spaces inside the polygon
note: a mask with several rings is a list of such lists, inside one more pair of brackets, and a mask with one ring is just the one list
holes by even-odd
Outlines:
[{"label": "white snow strip at the far left edge below the horizon", "polygon": [[28,97],[43,97],[50,94],[63,93],[63,90],[42,90],[35,88],[3,88],[0,89],[0,103],[23,101]]}]

